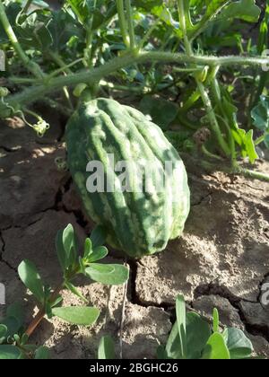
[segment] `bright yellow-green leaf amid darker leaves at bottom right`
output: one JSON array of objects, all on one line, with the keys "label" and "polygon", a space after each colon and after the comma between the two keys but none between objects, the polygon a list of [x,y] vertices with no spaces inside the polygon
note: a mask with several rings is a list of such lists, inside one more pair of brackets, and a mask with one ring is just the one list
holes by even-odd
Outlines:
[{"label": "bright yellow-green leaf amid darker leaves at bottom right", "polygon": [[230,360],[230,352],[220,333],[215,332],[208,340],[202,356],[205,360]]}]

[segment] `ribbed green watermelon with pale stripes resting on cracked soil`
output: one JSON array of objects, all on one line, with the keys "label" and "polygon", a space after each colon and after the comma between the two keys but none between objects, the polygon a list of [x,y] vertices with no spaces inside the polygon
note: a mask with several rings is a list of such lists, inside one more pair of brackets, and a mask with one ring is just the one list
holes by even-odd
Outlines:
[{"label": "ribbed green watermelon with pale stripes resting on cracked soil", "polygon": [[[97,99],[74,112],[65,138],[69,169],[83,206],[92,220],[107,228],[109,244],[141,258],[164,250],[170,239],[182,234],[190,208],[187,172],[160,127],[138,110],[114,100]],[[90,194],[86,166],[89,160],[100,160],[106,166],[108,153],[114,153],[117,161],[143,157],[147,162],[163,164],[169,158],[180,164],[179,186],[178,181],[171,180],[171,187],[155,196]]]}]

